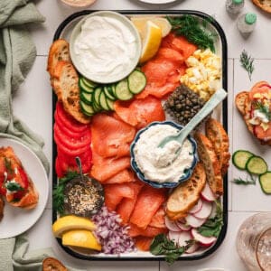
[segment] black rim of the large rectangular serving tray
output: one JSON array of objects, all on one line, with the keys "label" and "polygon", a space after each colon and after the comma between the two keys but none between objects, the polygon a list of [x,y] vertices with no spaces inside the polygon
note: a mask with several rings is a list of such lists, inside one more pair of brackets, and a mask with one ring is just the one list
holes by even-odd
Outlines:
[{"label": "black rim of the large rectangular serving tray", "polygon": [[[53,36],[53,41],[58,40],[61,38],[61,35],[67,31],[67,29],[72,28],[74,26],[74,23],[78,22],[78,20],[88,14],[91,14],[93,12],[96,12],[94,10],[84,10],[80,11],[75,14],[71,14],[69,17],[67,17],[57,28],[56,32],[54,33]],[[227,51],[227,40],[225,33],[223,29],[221,28],[220,24],[209,14],[204,14],[199,11],[192,11],[192,10],[156,10],[156,11],[149,11],[149,10],[125,10],[125,11],[115,11],[120,14],[125,14],[125,15],[182,15],[182,14],[192,14],[195,15],[201,19],[207,19],[211,26],[216,30],[216,32],[220,36],[220,48],[221,48],[221,83],[222,83],[222,88],[227,90],[228,89],[228,51]],[[52,112],[55,110],[57,102],[57,97],[55,94],[52,95]],[[228,131],[228,100],[227,98],[223,100],[222,102],[222,108],[221,108],[221,118],[222,118],[222,123],[226,131]],[[52,114],[53,116],[53,114]],[[52,124],[54,123],[54,118],[52,117]],[[53,133],[53,131],[52,131]],[[53,138],[53,136],[52,136]],[[52,140],[52,185],[53,187],[57,185],[58,179],[55,171],[55,166],[54,166],[54,161],[57,155],[57,148]],[[189,261],[189,260],[199,260],[204,257],[210,256],[212,253],[214,253],[221,245],[223,242],[226,232],[227,232],[227,227],[228,227],[228,174],[226,173],[223,179],[223,188],[224,188],[224,194],[222,196],[222,209],[223,209],[223,227],[220,231],[220,236],[217,239],[216,243],[210,247],[209,249],[204,250],[201,254],[191,254],[191,255],[184,255],[182,257],[179,257],[178,260],[180,261]],[[52,223],[57,220],[57,211],[52,210]],[[115,255],[93,255],[93,256],[85,256],[82,254],[79,254],[70,248],[64,247],[61,244],[61,239],[57,238],[58,243],[60,244],[61,248],[63,248],[64,251],[66,251],[68,254],[70,254],[73,257],[77,257],[79,259],[83,260],[111,260],[111,261],[119,261],[119,260],[144,260],[144,261],[157,261],[157,260],[164,260],[163,256],[148,256],[148,257],[128,257],[128,256],[115,256]]]}]

